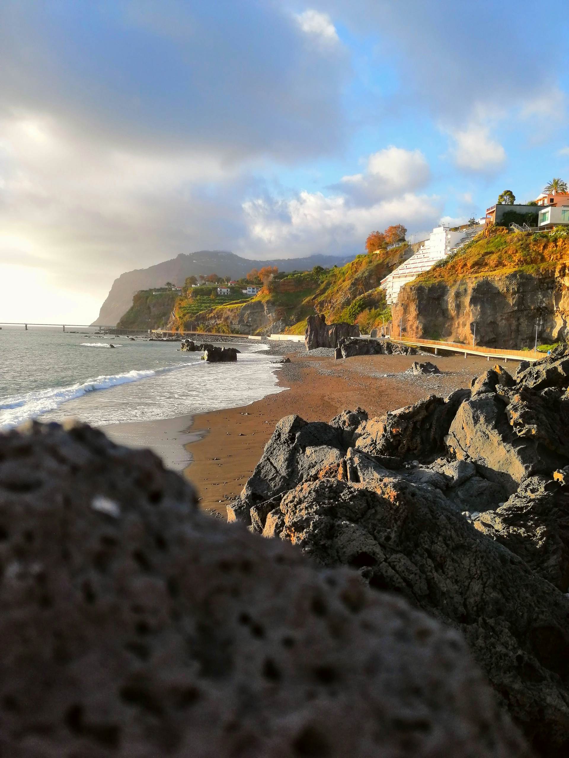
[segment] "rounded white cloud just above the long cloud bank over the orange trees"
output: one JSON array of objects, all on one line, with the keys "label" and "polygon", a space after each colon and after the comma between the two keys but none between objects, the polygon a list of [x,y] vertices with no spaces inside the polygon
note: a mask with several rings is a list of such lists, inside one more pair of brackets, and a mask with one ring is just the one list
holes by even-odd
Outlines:
[{"label": "rounded white cloud just above the long cloud bank over the orange trees", "polygon": [[338,186],[358,202],[376,202],[420,189],[430,176],[429,164],[420,150],[390,145],[369,156],[365,173],[342,177]]}]

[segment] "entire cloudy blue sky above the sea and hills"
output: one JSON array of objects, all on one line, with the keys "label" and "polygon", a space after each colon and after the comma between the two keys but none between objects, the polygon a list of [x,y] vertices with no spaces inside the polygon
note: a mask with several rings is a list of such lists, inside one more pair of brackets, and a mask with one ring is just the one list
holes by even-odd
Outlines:
[{"label": "entire cloudy blue sky above the sea and hills", "polygon": [[355,255],[569,180],[566,11],[3,0],[0,318],[87,322],[180,252]]}]

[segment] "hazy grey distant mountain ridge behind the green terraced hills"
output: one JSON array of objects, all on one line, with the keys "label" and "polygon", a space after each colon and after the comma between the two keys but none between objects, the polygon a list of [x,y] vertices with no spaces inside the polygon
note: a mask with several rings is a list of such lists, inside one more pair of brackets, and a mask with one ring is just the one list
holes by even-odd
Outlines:
[{"label": "hazy grey distant mountain ridge behind the green terraced hills", "polygon": [[181,252],[176,258],[156,263],[146,268],[135,268],[125,271],[112,283],[111,290],[105,302],[102,303],[99,316],[93,321],[93,326],[115,326],[132,304],[134,293],[151,287],[162,287],[166,281],[178,286],[184,283],[186,277],[200,274],[219,274],[219,276],[244,277],[251,268],[262,266],[277,266],[279,271],[306,271],[316,265],[328,267],[342,265],[350,260],[350,256],[310,255],[305,258],[275,258],[258,261],[253,258],[242,258],[228,250],[196,250],[196,252]]}]

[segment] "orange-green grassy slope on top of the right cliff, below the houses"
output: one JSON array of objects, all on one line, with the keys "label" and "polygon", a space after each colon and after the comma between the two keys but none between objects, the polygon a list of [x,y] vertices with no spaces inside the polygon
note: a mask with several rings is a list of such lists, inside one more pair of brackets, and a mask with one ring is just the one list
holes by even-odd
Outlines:
[{"label": "orange-green grassy slope on top of the right cliff, below the houses", "polygon": [[569,235],[565,230],[551,233],[510,232],[489,227],[454,255],[420,274],[407,287],[435,282],[454,283],[467,277],[541,269],[569,262]]}]

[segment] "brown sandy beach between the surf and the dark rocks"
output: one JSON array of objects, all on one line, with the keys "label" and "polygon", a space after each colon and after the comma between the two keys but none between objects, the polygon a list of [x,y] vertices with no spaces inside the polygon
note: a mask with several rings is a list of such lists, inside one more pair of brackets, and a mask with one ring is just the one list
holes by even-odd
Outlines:
[{"label": "brown sandy beach between the surf and the dark rocks", "polygon": [[[492,365],[476,357],[430,356],[442,373],[414,377],[403,372],[416,356],[357,356],[335,361],[296,353],[290,358],[291,363],[279,369],[279,384],[285,391],[248,406],[193,418],[188,432],[192,439],[185,443],[191,462],[184,468],[184,476],[198,490],[204,509],[225,517],[225,503],[240,492],[283,416],[297,413],[307,421],[329,421],[342,410],[357,406],[370,415],[381,415],[432,394],[445,396],[459,387],[470,387],[472,377]],[[162,422],[152,424],[160,437]],[[180,428],[183,425],[178,424]]]}]

